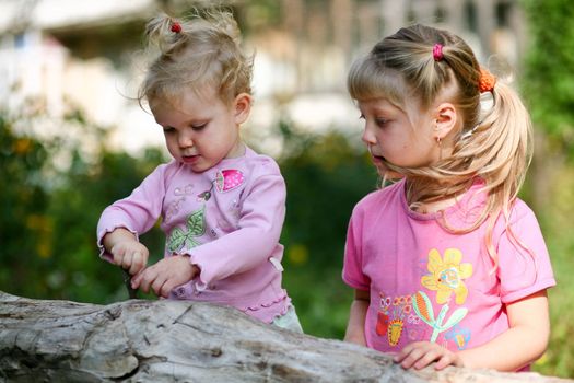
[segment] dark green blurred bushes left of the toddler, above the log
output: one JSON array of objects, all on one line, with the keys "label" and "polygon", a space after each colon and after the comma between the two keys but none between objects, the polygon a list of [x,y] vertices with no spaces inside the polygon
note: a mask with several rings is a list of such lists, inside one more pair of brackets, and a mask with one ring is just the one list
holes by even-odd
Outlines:
[{"label": "dark green blurred bushes left of the toddler, above the log", "polygon": [[[48,118],[61,136],[16,134],[16,124],[45,124],[46,117],[42,111],[0,113],[0,290],[95,303],[125,299],[120,270],[97,259],[95,225],[102,210],[128,196],[163,154],[149,149],[134,159],[105,150],[105,130],[77,109]],[[95,156],[74,137],[89,137]],[[157,229],[142,241],[154,258],[163,254]]]}]

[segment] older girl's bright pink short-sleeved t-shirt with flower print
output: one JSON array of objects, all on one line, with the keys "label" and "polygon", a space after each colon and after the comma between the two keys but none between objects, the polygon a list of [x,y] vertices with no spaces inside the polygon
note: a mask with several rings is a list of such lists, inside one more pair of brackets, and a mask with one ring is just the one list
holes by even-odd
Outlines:
[{"label": "older girl's bright pink short-sleeved t-shirt with flower print", "polygon": [[[468,228],[484,204],[476,182],[448,208],[449,227]],[[504,218],[493,231],[499,267],[484,246],[487,223],[467,234],[449,233],[440,213],[409,209],[405,181],[374,192],[354,208],[349,224],[343,280],[371,292],[365,321],[368,347],[396,352],[430,340],[452,351],[480,346],[508,328],[505,303],[555,285],[548,251],[532,211],[517,200],[511,228],[534,257],[506,235]]]}]

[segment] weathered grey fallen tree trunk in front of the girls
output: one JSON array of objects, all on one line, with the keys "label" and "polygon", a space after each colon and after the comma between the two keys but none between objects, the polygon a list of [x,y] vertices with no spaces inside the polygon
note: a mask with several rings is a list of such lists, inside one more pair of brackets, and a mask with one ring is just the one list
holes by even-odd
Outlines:
[{"label": "weathered grey fallen tree trunk in front of the girls", "polygon": [[181,301],[110,305],[0,292],[0,382],[565,382],[536,373],[406,371],[390,357]]}]

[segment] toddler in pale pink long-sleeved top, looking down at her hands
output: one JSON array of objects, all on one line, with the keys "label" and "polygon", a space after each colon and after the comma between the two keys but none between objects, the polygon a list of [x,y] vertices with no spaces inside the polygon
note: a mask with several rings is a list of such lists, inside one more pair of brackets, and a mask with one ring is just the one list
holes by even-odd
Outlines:
[{"label": "toddler in pale pink long-sleeved top, looking down at her hands", "polygon": [[[148,24],[155,49],[141,88],[163,128],[169,163],[104,210],[101,255],[128,270],[131,287],[159,297],[234,306],[302,332],[281,286],[285,183],[277,163],[247,148],[251,58],[231,13]],[[138,235],[162,218],[164,258],[148,265]]]}]

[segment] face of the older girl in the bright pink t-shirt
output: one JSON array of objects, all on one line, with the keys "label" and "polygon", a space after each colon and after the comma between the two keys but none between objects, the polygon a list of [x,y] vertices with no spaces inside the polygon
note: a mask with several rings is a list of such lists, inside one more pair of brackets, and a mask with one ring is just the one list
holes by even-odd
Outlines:
[{"label": "face of the older girl in the bright pink t-shirt", "polygon": [[361,118],[365,120],[363,142],[380,175],[396,177],[382,160],[401,166],[420,167],[440,160],[433,118],[421,112],[414,102],[406,109],[391,104],[387,98],[359,101]]}]

